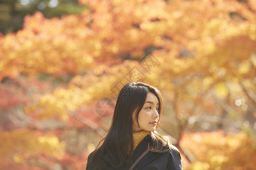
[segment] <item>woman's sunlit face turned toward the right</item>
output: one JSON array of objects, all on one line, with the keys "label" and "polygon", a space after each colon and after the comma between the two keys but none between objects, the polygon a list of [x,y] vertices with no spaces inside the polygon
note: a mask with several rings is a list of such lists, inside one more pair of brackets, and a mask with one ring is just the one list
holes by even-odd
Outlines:
[{"label": "woman's sunlit face turned toward the right", "polygon": [[158,108],[158,98],[151,92],[148,92],[143,108],[141,109],[141,112],[139,112],[139,126],[136,121],[136,111],[133,113],[133,131],[154,131],[159,120]]}]

